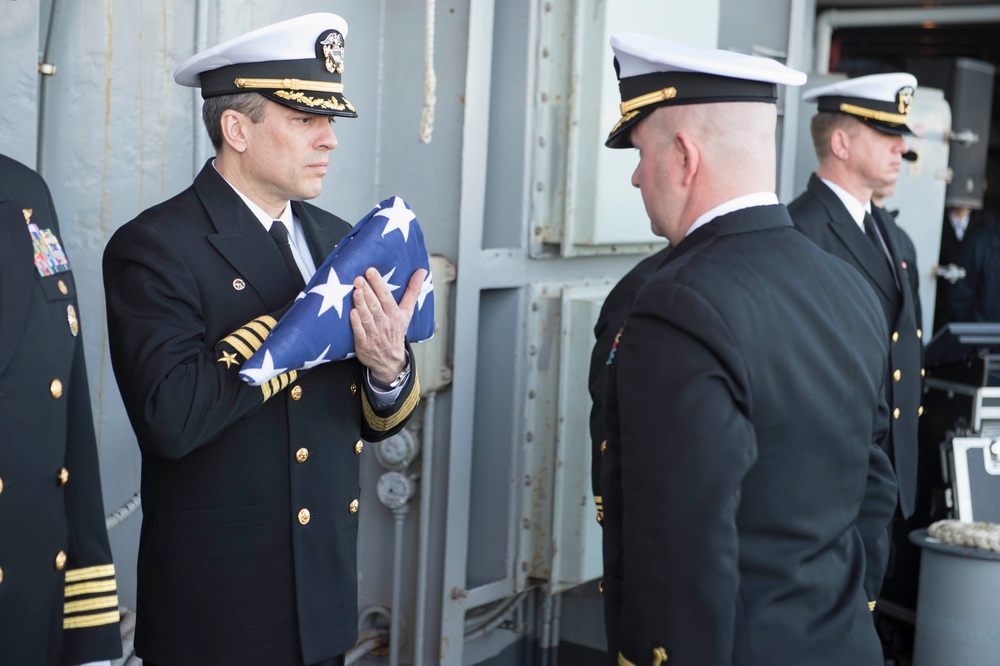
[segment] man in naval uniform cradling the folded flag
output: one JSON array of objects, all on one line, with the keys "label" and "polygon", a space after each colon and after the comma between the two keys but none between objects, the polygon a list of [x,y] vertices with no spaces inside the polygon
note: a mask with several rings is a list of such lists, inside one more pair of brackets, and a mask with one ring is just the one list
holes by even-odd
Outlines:
[{"label": "man in naval uniform cradling the folded flag", "polygon": [[374,269],[354,281],[357,358],[257,388],[237,375],[350,231],[303,201],[333,118],[357,115],[346,37],[339,16],[310,14],[178,66],[216,156],[105,251],[111,359],[142,451],[147,666],[333,665],[355,643],[362,438],[399,431],[417,403],[404,334],[425,271],[398,307]]}]

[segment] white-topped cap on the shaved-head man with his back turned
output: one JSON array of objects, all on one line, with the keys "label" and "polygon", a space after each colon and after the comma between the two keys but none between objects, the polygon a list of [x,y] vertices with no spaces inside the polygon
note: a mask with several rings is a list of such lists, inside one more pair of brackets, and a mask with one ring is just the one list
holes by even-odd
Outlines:
[{"label": "white-topped cap on the shaved-head man with his back turned", "polygon": [[778,101],[778,84],[800,86],[806,75],[776,60],[701,49],[638,33],[611,37],[621,92],[621,120],[604,145],[631,148],[632,127],[661,106]]}]

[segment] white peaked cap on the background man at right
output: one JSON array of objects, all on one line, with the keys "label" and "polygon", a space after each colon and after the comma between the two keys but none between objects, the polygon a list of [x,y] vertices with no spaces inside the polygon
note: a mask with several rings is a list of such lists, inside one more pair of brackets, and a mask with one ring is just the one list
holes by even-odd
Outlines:
[{"label": "white peaked cap on the background man at right", "polygon": [[886,134],[913,134],[907,127],[917,79],[906,72],[871,74],[813,88],[802,95],[817,111],[844,113]]}]

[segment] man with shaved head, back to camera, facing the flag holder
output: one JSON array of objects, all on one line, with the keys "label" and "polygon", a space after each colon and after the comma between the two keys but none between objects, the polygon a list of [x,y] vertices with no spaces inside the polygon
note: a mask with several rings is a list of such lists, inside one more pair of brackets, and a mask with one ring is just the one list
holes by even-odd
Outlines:
[{"label": "man with shaved head, back to camera, facing the flag holder", "polygon": [[[887,341],[850,266],[775,188],[777,62],[612,37],[632,184],[674,246],[607,378],[609,661],[874,666],[866,572],[895,505]],[[831,318],[837,322],[830,325]]]}]

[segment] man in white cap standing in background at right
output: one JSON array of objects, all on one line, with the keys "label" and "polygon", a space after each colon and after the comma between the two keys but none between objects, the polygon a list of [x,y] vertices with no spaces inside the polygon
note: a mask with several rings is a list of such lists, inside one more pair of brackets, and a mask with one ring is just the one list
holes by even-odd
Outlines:
[{"label": "man in white cap standing in background at right", "polygon": [[908,150],[904,136],[913,133],[906,123],[916,85],[910,74],[873,74],[803,95],[817,102],[810,131],[819,167],[807,190],[788,206],[795,228],[854,266],[882,306],[889,344],[885,391],[892,415],[886,453],[896,471],[903,518],[916,503],[922,331],[899,229],[892,216],[872,215],[871,198],[877,188],[899,178]]}]

